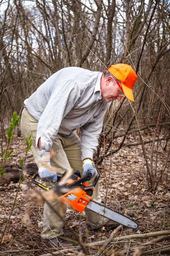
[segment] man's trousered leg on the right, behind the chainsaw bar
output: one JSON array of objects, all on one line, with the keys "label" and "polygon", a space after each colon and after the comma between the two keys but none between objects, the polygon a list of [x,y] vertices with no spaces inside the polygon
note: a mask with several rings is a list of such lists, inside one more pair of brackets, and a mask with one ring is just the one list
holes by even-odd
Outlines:
[{"label": "man's trousered leg on the right, behind the chainsaw bar", "polygon": [[[80,139],[76,133],[72,134],[71,136],[65,136],[63,138],[65,143],[63,144],[63,149],[65,154],[67,155],[68,161],[74,171],[80,171],[81,176],[83,175],[82,169],[82,153],[81,153],[81,145]],[[95,166],[94,166],[95,167]],[[97,171],[96,171],[97,174]],[[95,176],[96,177],[96,176]],[[88,184],[92,185],[95,177],[93,177]],[[99,195],[99,182],[95,186],[95,191],[92,196],[93,200],[101,203],[101,198]],[[108,222],[107,218],[103,218],[97,213],[94,213],[88,209],[85,209],[85,213],[88,217],[88,222],[91,225],[92,229],[96,229],[98,227],[102,227],[103,224]]]}]

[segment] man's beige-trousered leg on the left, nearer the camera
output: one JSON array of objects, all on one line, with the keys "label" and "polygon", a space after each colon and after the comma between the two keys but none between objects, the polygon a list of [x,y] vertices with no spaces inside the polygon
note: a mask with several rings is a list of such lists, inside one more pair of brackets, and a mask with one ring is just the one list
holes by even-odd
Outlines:
[{"label": "man's beige-trousered leg on the left, nearer the camera", "polygon": [[[37,125],[38,122],[34,117],[32,117],[26,108],[24,108],[22,117],[21,117],[21,131],[23,137],[26,139],[28,136],[32,136],[32,145],[31,145],[31,152],[33,154],[34,160],[38,165],[37,160],[37,150],[35,146],[36,134],[37,134]],[[67,156],[65,151],[62,148],[62,144],[64,143],[61,136],[57,135],[54,140],[53,146],[51,150],[54,151],[54,157],[51,158],[51,166],[57,169],[57,173],[62,174],[66,170],[70,170],[70,164],[68,162]],[[62,204],[59,201],[54,201],[51,203],[54,207],[55,211],[59,211],[62,217],[65,219],[66,209],[67,206]],[[54,237],[60,236],[63,234],[63,224],[64,221],[59,218],[56,212],[48,206],[47,203],[44,205],[44,215],[43,215],[43,231],[42,231],[42,238],[53,239]]]}]

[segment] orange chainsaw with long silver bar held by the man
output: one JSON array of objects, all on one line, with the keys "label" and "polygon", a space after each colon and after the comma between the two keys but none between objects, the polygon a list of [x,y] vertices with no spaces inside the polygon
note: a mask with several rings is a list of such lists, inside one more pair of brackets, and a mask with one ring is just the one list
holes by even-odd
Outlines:
[{"label": "orange chainsaw with long silver bar held by the man", "polygon": [[66,172],[62,175],[57,174],[57,185],[51,188],[37,182],[36,178],[40,177],[38,173],[34,175],[32,182],[46,191],[52,189],[53,192],[57,193],[57,199],[59,201],[69,205],[78,212],[83,212],[86,208],[125,227],[132,229],[138,228],[138,224],[132,219],[92,200],[94,188],[99,180],[100,174],[97,174],[93,184],[90,186],[86,181],[91,180],[91,172],[88,172],[85,176],[81,177],[80,172],[75,171],[71,174],[71,177],[69,177],[71,182],[66,185],[60,185],[58,181],[62,180],[65,174]]}]

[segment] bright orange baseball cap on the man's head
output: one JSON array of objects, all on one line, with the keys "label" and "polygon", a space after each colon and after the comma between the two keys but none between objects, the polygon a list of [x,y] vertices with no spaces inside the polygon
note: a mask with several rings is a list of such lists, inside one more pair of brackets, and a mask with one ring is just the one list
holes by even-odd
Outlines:
[{"label": "bright orange baseball cap on the man's head", "polygon": [[123,92],[127,99],[134,102],[132,88],[136,82],[137,76],[132,66],[120,63],[112,65],[108,68],[108,71],[121,82]]}]

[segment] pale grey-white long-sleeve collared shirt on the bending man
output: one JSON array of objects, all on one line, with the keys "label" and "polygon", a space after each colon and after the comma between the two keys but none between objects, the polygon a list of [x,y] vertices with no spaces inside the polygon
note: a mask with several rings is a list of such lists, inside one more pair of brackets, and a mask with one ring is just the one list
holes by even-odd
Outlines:
[{"label": "pale grey-white long-sleeve collared shirt on the bending man", "polygon": [[101,72],[66,67],[49,77],[24,101],[38,121],[36,147],[39,156],[49,152],[57,135],[71,135],[80,128],[82,159],[90,157],[98,145],[103,115],[109,103],[102,100]]}]

